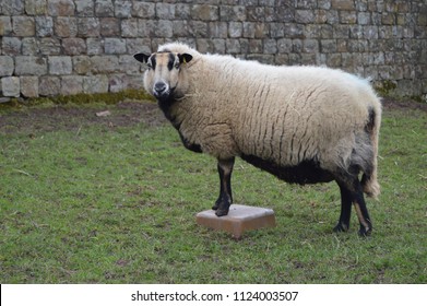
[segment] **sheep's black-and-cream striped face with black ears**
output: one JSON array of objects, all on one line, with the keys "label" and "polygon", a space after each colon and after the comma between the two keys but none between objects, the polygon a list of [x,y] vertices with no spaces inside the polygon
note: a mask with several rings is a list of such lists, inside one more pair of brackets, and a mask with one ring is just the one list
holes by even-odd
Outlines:
[{"label": "sheep's black-and-cream striped face with black ears", "polygon": [[186,92],[182,66],[191,61],[189,54],[155,52],[138,54],[134,58],[147,64],[144,74],[144,89],[158,101],[182,97]]}]

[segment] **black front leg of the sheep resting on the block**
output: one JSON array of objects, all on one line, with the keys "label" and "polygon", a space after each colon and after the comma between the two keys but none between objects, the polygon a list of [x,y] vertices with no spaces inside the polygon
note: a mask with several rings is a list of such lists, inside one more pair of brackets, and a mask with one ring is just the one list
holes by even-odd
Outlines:
[{"label": "black front leg of the sheep resting on the block", "polygon": [[212,208],[216,210],[217,216],[227,215],[229,205],[233,203],[232,196],[232,173],[235,163],[235,157],[228,160],[218,158],[218,174],[220,174],[220,197]]}]

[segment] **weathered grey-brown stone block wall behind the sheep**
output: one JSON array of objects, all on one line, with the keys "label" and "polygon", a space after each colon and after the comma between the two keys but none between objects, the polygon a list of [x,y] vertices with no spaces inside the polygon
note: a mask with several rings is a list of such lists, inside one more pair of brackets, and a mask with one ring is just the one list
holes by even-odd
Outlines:
[{"label": "weathered grey-brown stone block wall behind the sheep", "polygon": [[141,89],[132,55],[176,39],[427,94],[426,0],[1,0],[0,96]]}]

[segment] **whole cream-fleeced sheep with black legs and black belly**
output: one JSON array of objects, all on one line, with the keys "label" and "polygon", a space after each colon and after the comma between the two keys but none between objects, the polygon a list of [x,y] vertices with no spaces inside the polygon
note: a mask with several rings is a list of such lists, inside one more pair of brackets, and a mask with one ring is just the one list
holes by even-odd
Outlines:
[{"label": "whole cream-fleeced sheep with black legs and black belly", "polygon": [[381,103],[369,81],[324,67],[202,55],[181,43],[134,58],[147,64],[144,89],[185,148],[216,157],[220,197],[212,209],[217,216],[233,203],[230,178],[239,156],[290,184],[334,180],[341,214],[333,231],[348,231],[353,204],[359,235],[370,235],[364,193],[380,192]]}]

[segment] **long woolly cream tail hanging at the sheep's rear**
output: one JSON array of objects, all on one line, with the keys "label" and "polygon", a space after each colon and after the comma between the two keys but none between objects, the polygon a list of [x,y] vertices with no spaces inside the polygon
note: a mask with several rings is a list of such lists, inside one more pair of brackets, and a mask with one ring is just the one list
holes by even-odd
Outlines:
[{"label": "long woolly cream tail hanging at the sheep's rear", "polygon": [[366,131],[369,133],[371,144],[372,144],[372,161],[370,170],[365,172],[361,176],[361,187],[364,192],[373,199],[378,199],[380,195],[380,185],[377,179],[377,168],[378,168],[378,138],[381,123],[381,105],[379,104],[376,109],[372,107],[369,109],[369,119],[366,125]]}]

